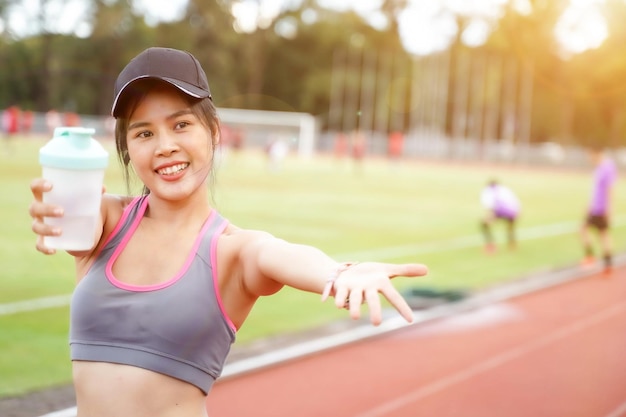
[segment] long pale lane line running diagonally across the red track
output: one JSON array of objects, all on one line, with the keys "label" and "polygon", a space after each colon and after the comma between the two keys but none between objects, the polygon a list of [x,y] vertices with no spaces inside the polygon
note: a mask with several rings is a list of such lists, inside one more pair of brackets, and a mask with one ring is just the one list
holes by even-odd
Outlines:
[{"label": "long pale lane line running diagonally across the red track", "polygon": [[[549,335],[545,337],[535,339],[529,343],[522,344],[516,348],[502,352],[499,355],[496,355],[486,361],[480,362],[474,366],[466,368],[460,372],[454,373],[447,377],[441,378],[437,381],[431,382],[430,384],[422,386],[406,395],[398,397],[397,399],[393,401],[389,401],[385,404],[382,404],[379,407],[368,410],[367,412],[363,414],[359,414],[358,417],[379,417],[379,416],[392,415],[394,411],[404,406],[407,406],[411,403],[418,402],[426,397],[445,391],[446,389],[451,388],[454,385],[470,381],[474,377],[487,373],[499,366],[512,362],[513,360],[519,359],[525,355],[538,351],[542,348],[545,348],[575,333],[578,333],[582,330],[585,330],[592,326],[600,324],[604,322],[605,320],[610,319],[618,314],[623,314],[624,312],[626,312],[626,302],[613,305],[609,308],[606,308],[600,311],[599,313],[594,314],[593,316],[586,317],[582,320],[577,320],[574,323],[568,326],[565,326],[561,328],[560,330],[555,331],[554,333],[550,333]],[[616,410],[616,412],[619,412],[619,411],[620,410]],[[613,413],[608,417],[617,417],[619,415],[620,414]]]}]

